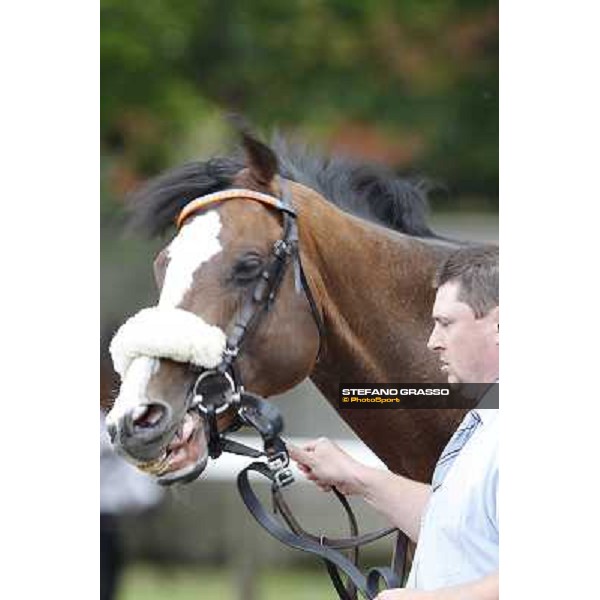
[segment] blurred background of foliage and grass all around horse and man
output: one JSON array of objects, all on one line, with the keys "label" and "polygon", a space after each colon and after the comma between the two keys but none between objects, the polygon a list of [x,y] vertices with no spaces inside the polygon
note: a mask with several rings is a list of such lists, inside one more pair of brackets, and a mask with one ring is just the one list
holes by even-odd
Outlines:
[{"label": "blurred background of foliage and grass all around horse and man", "polygon": [[[443,190],[431,199],[434,229],[498,239],[495,0],[101,0],[101,94],[101,397],[116,385],[106,342],[155,303],[151,259],[164,243],[123,236],[125,198],[167,167],[230,150],[230,112],[266,139],[278,128],[325,153],[425,175]],[[310,385],[280,406],[288,434],[352,436]],[[297,555],[245,520],[233,483],[181,494],[123,520],[135,566],[119,598],[333,597],[324,572],[289,571]],[[298,494],[309,526],[331,523],[336,507]],[[380,525],[362,518],[364,529]],[[281,564],[292,583],[271,570],[245,593],[239,536],[251,540],[253,569]],[[375,564],[387,551],[374,550]]]}]

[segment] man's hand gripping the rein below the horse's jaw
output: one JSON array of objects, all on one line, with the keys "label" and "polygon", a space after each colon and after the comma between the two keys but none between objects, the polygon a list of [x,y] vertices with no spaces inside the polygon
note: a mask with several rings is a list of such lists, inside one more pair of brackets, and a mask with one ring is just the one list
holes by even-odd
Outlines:
[{"label": "man's hand gripping the rein below the horse's jaw", "polygon": [[297,463],[307,479],[328,492],[336,487],[342,494],[362,494],[362,474],[365,465],[354,460],[337,444],[326,438],[319,438],[302,448],[287,444],[290,457]]}]

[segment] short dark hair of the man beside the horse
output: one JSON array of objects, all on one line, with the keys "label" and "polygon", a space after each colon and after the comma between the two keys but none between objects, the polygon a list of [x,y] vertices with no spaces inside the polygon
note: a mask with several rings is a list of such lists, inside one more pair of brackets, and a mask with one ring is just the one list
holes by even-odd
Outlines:
[{"label": "short dark hair of the man beside the horse", "polygon": [[439,267],[434,287],[456,281],[458,300],[468,304],[476,318],[500,303],[498,246],[469,246],[453,252]]}]

